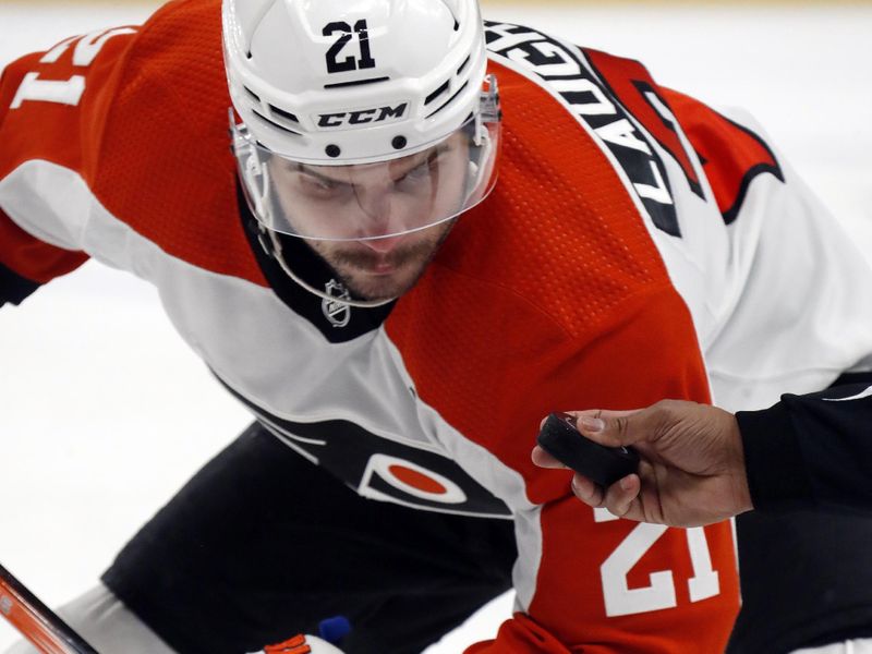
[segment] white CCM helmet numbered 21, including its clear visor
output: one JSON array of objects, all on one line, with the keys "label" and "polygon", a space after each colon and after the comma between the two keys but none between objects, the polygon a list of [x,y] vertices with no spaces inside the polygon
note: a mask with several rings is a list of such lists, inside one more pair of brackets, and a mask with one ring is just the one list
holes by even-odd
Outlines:
[{"label": "white CCM helmet numbered 21, including its clear visor", "polygon": [[[230,97],[241,119],[231,114],[233,149],[267,229],[312,239],[391,237],[448,220],[493,189],[499,107],[496,81],[485,83],[477,0],[223,0],[222,17]],[[283,172],[342,185],[348,198],[356,197],[358,173],[391,182],[411,166],[416,192],[435,197],[449,175],[422,153],[458,133],[467,136],[469,159],[462,197],[419,205],[414,218],[383,227],[328,205],[323,223],[294,216],[306,202],[295,202],[299,190],[275,168],[283,161]],[[372,214],[356,204],[359,214]]]}]

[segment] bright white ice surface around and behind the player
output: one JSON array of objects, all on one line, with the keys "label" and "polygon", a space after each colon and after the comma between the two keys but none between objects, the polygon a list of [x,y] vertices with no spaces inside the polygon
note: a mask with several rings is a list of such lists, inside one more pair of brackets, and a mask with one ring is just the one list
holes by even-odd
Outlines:
[{"label": "bright white ice surface around and behind the player", "polygon": [[[0,65],[149,11],[3,0]],[[663,84],[751,110],[872,253],[872,7],[621,2],[486,15],[641,59]],[[0,310],[0,561],[50,605],[77,595],[249,420],[128,275],[87,264]],[[509,607],[497,600],[427,654],[487,638]],[[0,623],[0,649],[14,639]]]}]

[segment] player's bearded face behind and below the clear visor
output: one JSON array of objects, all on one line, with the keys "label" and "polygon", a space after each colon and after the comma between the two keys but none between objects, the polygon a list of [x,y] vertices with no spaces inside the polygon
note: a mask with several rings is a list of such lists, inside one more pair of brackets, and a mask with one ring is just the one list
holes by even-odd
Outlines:
[{"label": "player's bearded face behind and below the clear visor", "polygon": [[[352,291],[380,300],[408,291],[424,272],[455,220],[409,230],[460,209],[468,167],[467,138],[455,134],[423,153],[375,165],[305,166],[276,158],[270,174],[300,233],[325,233],[335,225],[348,238],[351,229],[356,240],[305,241]],[[382,234],[399,235],[374,238]]]}]

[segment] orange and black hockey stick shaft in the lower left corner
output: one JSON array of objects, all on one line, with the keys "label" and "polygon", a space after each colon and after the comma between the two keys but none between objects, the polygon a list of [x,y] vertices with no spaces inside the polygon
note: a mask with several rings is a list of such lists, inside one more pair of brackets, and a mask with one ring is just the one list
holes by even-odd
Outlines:
[{"label": "orange and black hockey stick shaft in the lower left corner", "polygon": [[43,654],[98,654],[3,566],[0,566],[0,614]]}]

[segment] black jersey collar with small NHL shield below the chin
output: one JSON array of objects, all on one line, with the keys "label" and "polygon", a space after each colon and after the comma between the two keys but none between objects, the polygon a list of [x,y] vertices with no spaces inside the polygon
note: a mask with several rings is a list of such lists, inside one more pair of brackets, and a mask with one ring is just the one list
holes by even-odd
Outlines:
[{"label": "black jersey collar with small NHL shield below the chin", "polygon": [[[349,307],[350,319],[348,324],[341,327],[335,326],[325,315],[325,300],[308,292],[288,277],[271,254],[267,254],[264,250],[258,239],[261,231],[257,227],[257,220],[249,208],[249,203],[245,201],[245,195],[239,181],[237,181],[237,204],[239,205],[239,214],[242,218],[245,235],[249,239],[249,245],[254,252],[261,271],[266,277],[270,288],[294,313],[312,323],[328,341],[343,343],[354,340],[359,336],[378,329],[390,315],[393,302],[374,308]],[[339,280],[339,275],[315,254],[303,239],[282,234],[279,234],[279,239],[286,263],[307,283],[316,289],[325,289],[331,280]]]}]

